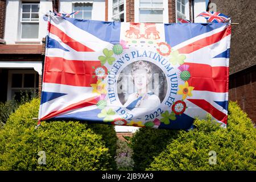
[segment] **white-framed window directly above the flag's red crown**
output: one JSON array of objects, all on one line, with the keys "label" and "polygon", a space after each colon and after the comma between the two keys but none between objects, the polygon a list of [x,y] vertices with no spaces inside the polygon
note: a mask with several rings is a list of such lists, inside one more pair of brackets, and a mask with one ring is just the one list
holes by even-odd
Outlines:
[{"label": "white-framed window directly above the flag's red crown", "polygon": [[163,23],[163,0],[140,0],[139,22]]}]

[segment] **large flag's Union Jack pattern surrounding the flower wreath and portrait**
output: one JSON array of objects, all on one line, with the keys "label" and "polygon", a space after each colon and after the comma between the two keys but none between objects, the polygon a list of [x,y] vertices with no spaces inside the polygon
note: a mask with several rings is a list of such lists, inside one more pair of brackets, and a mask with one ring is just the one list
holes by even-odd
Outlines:
[{"label": "large flag's Union Jack pattern surrounding the flower wreath and portrait", "polygon": [[[95,89],[92,85],[98,82],[95,68],[102,67],[99,57],[102,55],[102,50],[106,48],[110,50],[115,44],[123,43],[121,37],[125,33],[122,30],[125,27],[131,27],[131,24],[133,23],[51,17],[47,29],[39,121],[79,120],[113,123],[99,117],[99,114],[108,116],[113,111],[117,113],[120,110],[106,110],[104,113],[99,109],[98,101],[108,100],[110,95],[105,93],[99,96],[92,92]],[[159,35],[154,38],[160,37],[164,42],[162,46],[168,44],[166,49],[171,48],[172,52],[178,51],[180,55],[185,56],[186,68],[191,75],[187,84],[195,87],[191,97],[185,100],[180,98],[180,106],[185,102],[187,109],[183,108],[180,114],[176,114],[175,121],[170,120],[168,123],[168,120],[167,122],[163,120],[163,123],[155,119],[155,125],[166,129],[189,129],[194,118],[205,118],[210,114],[213,119],[226,126],[230,24],[214,23],[203,26],[200,23],[156,23],[155,26],[158,29],[154,32]],[[148,33],[149,38],[150,35]],[[146,39],[146,36],[144,37]],[[167,51],[167,53],[170,52]],[[105,59],[109,59],[109,55],[111,56],[112,53],[105,52]],[[124,57],[125,55],[123,58],[121,56],[121,60]],[[108,74],[104,69],[102,67],[101,71]],[[165,100],[167,98],[168,94]],[[171,113],[171,107],[168,109]],[[130,111],[126,110],[126,112]],[[161,114],[163,115],[163,113],[156,113],[156,115]],[[148,115],[148,118],[151,116],[154,118],[154,113]],[[121,119],[118,118],[119,121],[114,124],[121,122],[122,125],[124,123],[129,125],[134,122],[133,119],[129,121],[129,117],[127,115]],[[138,117],[134,116],[134,118]],[[147,125],[150,126],[151,123]]]}]

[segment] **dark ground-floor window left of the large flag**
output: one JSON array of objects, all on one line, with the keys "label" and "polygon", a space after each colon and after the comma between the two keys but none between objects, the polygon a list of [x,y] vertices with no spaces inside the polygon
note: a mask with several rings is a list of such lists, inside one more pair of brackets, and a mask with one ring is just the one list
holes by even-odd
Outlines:
[{"label": "dark ground-floor window left of the large flag", "polygon": [[35,71],[9,71],[7,99],[11,100],[14,97],[20,100],[26,92],[38,92],[38,86],[39,75]]}]

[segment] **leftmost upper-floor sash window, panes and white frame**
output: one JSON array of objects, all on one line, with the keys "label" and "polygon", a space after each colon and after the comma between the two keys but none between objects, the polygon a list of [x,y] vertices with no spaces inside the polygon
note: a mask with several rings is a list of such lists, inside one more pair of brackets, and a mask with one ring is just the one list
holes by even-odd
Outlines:
[{"label": "leftmost upper-floor sash window, panes and white frame", "polygon": [[20,39],[38,39],[39,3],[22,3]]}]

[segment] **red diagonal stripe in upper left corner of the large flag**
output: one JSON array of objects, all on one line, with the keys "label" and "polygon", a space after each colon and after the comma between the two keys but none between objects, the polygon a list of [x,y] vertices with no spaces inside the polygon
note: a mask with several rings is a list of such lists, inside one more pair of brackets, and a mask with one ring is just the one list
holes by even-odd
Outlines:
[{"label": "red diagonal stripe in upper left corner of the large flag", "polygon": [[93,49],[90,49],[89,47],[86,47],[84,44],[81,44],[80,42],[77,42],[76,40],[72,39],[70,36],[65,34],[63,31],[61,31],[53,24],[50,24],[49,32],[51,34],[58,36],[63,43],[67,44],[69,47],[75,49],[78,52],[94,52]]}]

